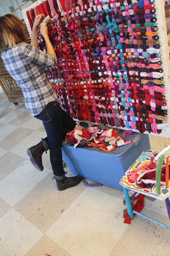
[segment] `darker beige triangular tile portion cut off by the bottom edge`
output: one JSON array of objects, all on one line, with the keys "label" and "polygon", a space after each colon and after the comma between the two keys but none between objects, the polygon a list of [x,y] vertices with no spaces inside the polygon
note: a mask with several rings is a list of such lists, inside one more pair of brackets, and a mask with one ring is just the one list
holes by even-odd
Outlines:
[{"label": "darker beige triangular tile portion cut off by the bottom edge", "polygon": [[67,251],[58,246],[46,235],[32,247],[32,249],[25,256],[71,256]]}]

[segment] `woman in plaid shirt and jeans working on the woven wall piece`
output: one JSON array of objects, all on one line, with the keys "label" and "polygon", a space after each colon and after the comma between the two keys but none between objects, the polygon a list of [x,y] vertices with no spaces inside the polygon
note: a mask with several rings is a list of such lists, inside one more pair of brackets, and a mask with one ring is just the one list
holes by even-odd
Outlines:
[{"label": "woman in plaid shirt and jeans working on the woven wall piece", "polygon": [[42,120],[47,137],[27,149],[33,165],[43,170],[42,153],[49,149],[50,162],[58,190],[74,187],[81,176],[66,177],[63,169],[62,139],[68,130],[74,130],[75,121],[60,108],[56,92],[46,78],[45,67],[57,64],[54,48],[49,40],[47,23],[40,32],[47,46],[47,54],[38,49],[38,27],[45,15],[36,16],[31,45],[27,44],[22,21],[12,14],[0,17],[1,57],[9,74],[21,87],[29,113]]}]

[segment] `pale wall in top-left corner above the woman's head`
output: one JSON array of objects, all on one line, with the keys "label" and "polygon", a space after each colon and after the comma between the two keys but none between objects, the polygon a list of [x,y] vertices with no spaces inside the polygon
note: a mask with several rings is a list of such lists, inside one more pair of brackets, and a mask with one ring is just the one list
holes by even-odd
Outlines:
[{"label": "pale wall in top-left corner above the woman's head", "polygon": [[[21,7],[21,9],[23,10],[27,6],[31,5],[33,2],[33,0],[29,2],[23,2],[22,0],[0,0],[0,16],[12,13],[9,9],[9,7],[11,6],[13,6],[14,9],[17,9],[21,5],[25,4]],[[17,10],[15,14],[16,16],[18,16],[18,18],[23,19],[20,9]]]}]

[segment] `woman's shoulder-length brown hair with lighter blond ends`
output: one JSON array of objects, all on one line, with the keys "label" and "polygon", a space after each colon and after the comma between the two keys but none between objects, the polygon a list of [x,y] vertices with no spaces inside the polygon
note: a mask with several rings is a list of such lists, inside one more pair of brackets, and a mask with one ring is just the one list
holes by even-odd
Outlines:
[{"label": "woman's shoulder-length brown hair with lighter blond ends", "polygon": [[22,21],[12,14],[0,17],[0,50],[8,50],[17,43],[27,42]]}]

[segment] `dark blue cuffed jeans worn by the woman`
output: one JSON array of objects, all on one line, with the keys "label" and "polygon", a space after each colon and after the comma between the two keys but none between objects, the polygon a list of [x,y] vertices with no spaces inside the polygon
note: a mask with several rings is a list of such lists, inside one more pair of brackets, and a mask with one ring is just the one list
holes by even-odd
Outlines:
[{"label": "dark blue cuffed jeans worn by the woman", "polygon": [[43,122],[47,133],[45,140],[49,145],[50,162],[54,176],[58,180],[63,180],[63,158],[62,140],[69,130],[74,130],[76,122],[69,116],[57,101],[49,102],[44,110],[35,116]]}]

